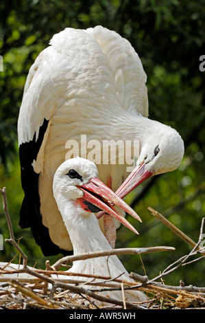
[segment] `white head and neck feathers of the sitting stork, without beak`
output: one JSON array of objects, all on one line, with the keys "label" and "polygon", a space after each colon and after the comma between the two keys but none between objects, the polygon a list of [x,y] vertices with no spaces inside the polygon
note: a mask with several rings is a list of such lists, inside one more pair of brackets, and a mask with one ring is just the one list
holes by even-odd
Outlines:
[{"label": "white head and neck feathers of the sitting stork, without beak", "polygon": [[[75,170],[82,179],[70,178],[69,171]],[[98,177],[97,167],[92,161],[82,158],[73,158],[64,161],[56,171],[53,179],[53,195],[58,204],[62,219],[73,245],[74,254],[86,254],[89,252],[99,252],[101,250],[110,250],[110,244],[106,240],[104,234],[99,228],[99,223],[95,214],[85,211],[76,201],[82,196],[82,188],[84,184],[90,183],[93,178]],[[88,187],[88,186],[86,186]],[[104,188],[103,188],[104,190]],[[101,191],[103,192],[103,191]],[[99,194],[99,197],[101,195]],[[105,197],[105,194],[104,194]],[[92,208],[92,207],[91,207]],[[119,217],[119,220],[123,217]],[[69,269],[71,273],[94,274],[99,276],[110,276],[134,282],[123,267],[117,256],[106,256],[99,258],[91,258],[87,260],[77,260],[73,263],[73,267]],[[69,278],[71,278],[70,276]],[[76,276],[73,277],[76,279]],[[80,280],[86,280],[81,278]],[[88,285],[86,285],[88,286]],[[122,300],[121,291],[106,291],[105,295],[110,295]],[[132,301],[147,300],[144,293],[140,291],[127,291],[125,298]]]}]

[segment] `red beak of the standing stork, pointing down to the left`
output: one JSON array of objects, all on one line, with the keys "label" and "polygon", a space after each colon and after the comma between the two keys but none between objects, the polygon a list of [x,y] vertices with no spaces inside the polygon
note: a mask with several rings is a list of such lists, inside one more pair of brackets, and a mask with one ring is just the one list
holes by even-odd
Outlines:
[{"label": "red beak of the standing stork, pointing down to the left", "polygon": [[145,163],[140,166],[136,166],[130,175],[123,181],[121,186],[116,191],[116,194],[123,199],[126,195],[128,195],[136,186],[143,183],[145,179],[148,179],[153,175],[153,172],[147,170],[145,168]]}]

